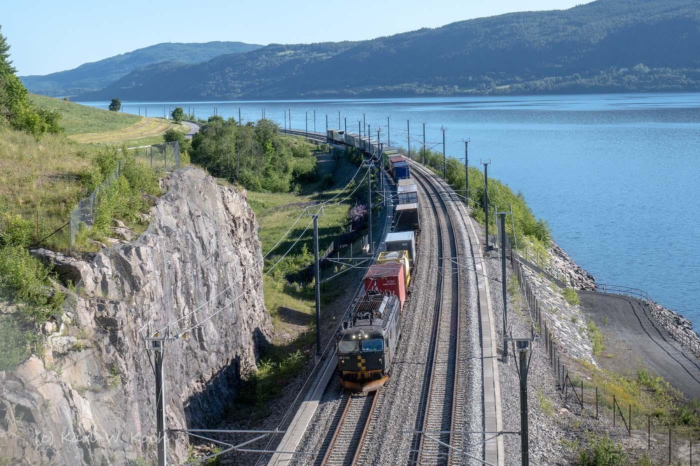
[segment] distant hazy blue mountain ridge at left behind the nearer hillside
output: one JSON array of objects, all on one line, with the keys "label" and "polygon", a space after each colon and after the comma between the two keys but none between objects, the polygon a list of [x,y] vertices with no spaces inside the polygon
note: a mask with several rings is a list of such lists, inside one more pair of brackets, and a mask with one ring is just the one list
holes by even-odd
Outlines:
[{"label": "distant hazy blue mountain ridge at left behind the nearer hillside", "polygon": [[52,97],[101,90],[134,70],[162,62],[207,62],[218,55],[250,52],[262,45],[243,42],[158,43],[45,76],[20,76],[30,92]]}]

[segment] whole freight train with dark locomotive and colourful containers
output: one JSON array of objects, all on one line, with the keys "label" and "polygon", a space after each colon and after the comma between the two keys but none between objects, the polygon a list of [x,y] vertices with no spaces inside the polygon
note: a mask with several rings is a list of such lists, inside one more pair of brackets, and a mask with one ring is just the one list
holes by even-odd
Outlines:
[{"label": "whole freight train with dark locomotive and colourful containers", "polygon": [[400,316],[409,292],[419,232],[418,189],[408,162],[359,134],[329,129],[329,141],[362,150],[384,164],[396,184],[391,232],[384,252],[365,274],[364,294],[351,305],[336,338],[337,372],[347,390],[371,392],[388,381],[401,334]]}]

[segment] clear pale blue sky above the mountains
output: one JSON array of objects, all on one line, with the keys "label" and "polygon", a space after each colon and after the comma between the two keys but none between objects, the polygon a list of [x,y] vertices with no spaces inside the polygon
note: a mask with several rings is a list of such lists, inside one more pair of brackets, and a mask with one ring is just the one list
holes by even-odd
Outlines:
[{"label": "clear pale blue sky above the mountains", "polygon": [[15,67],[20,75],[27,75],[71,69],[167,41],[358,40],[511,11],[570,8],[588,1],[8,1],[3,2],[0,24],[12,46]]}]

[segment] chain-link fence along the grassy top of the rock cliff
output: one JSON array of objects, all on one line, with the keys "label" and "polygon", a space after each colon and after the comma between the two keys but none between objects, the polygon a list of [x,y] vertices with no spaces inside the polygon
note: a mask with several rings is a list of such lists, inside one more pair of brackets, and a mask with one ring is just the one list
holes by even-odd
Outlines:
[{"label": "chain-link fence along the grassy top of the rock cliff", "polygon": [[[137,160],[146,162],[155,170],[168,171],[180,167],[180,144],[178,141],[131,148],[131,150],[134,150]],[[102,183],[99,183],[89,196],[81,199],[78,205],[69,213],[69,253],[73,253],[76,234],[78,234],[80,229],[94,225],[95,209],[97,209],[100,202],[100,192],[119,178],[119,171],[120,167],[117,165],[116,171],[105,178]]]}]

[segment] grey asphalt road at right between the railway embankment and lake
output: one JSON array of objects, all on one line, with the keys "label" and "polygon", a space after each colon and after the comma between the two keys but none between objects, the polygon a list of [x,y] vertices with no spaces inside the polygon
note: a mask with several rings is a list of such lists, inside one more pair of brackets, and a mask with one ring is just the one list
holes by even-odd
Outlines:
[{"label": "grey asphalt road at right between the railway embankment and lake", "polygon": [[[682,351],[639,299],[593,291],[579,292],[579,296],[584,312],[605,337],[605,349],[598,358],[605,369],[634,373],[647,367],[688,397],[700,398],[700,360]],[[607,325],[603,325],[605,317]]]}]

